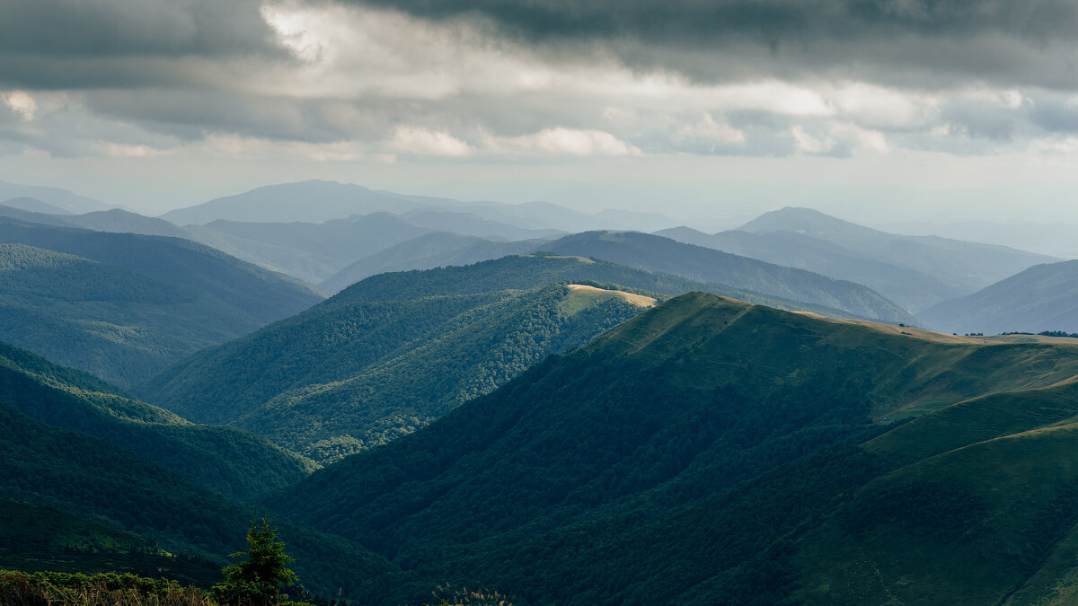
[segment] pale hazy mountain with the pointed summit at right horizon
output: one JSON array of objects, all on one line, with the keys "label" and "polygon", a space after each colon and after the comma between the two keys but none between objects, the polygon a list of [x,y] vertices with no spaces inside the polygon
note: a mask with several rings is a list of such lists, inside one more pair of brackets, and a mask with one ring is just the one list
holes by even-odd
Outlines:
[{"label": "pale hazy mountain with the pointed summit at right horizon", "polygon": [[837,244],[870,259],[936,276],[938,280],[964,289],[966,293],[1032,265],[1058,261],[1005,246],[938,236],[888,234],[808,208],[788,207],[766,212],[738,229],[755,234],[797,232]]}]

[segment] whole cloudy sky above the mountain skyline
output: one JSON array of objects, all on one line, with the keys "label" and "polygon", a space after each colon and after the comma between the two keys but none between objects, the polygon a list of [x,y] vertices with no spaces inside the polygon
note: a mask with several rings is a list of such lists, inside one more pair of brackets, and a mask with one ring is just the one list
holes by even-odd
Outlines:
[{"label": "whole cloudy sky above the mountain skyline", "polygon": [[0,180],[1078,223],[1078,0],[5,0]]}]

